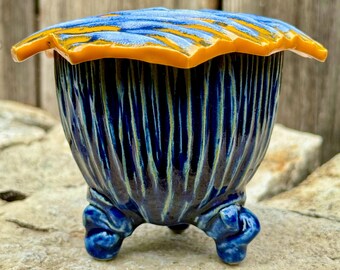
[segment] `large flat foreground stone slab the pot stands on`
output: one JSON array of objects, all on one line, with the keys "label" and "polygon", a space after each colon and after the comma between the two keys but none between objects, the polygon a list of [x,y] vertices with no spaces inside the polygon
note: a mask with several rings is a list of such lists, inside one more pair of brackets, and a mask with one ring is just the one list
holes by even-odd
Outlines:
[{"label": "large flat foreground stone slab the pot stands on", "polygon": [[[0,269],[226,269],[213,240],[190,227],[181,235],[141,225],[118,257],[93,260],[83,246],[81,213],[85,186],[41,190],[2,206]],[[339,223],[297,213],[250,206],[262,232],[246,260],[233,269],[339,269]],[[308,243],[308,244],[307,244]]]}]

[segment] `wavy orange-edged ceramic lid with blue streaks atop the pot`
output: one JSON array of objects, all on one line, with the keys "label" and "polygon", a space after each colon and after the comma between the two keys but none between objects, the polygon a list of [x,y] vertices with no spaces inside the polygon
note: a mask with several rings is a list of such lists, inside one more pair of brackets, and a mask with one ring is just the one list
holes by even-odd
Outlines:
[{"label": "wavy orange-edged ceramic lid with blue streaks atop the pot", "polygon": [[70,63],[128,58],[179,68],[232,52],[268,56],[290,50],[324,61],[327,50],[276,19],[217,10],[151,8],[60,23],[12,47],[16,61],[55,49]]}]

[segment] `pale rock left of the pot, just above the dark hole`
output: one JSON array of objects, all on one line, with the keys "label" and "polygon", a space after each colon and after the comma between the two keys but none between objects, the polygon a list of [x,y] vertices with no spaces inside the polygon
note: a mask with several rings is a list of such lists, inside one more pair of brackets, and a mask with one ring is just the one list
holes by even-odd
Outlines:
[{"label": "pale rock left of the pot, just above the dark hole", "polygon": [[41,141],[0,151],[0,172],[5,172],[0,173],[0,192],[29,196],[44,188],[84,183],[64,137],[58,135],[60,129],[52,129]]}]

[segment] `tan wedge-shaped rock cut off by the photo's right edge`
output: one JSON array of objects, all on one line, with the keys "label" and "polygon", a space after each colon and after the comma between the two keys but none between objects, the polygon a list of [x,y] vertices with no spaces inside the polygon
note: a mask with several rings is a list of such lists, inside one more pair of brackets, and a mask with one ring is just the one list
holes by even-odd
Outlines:
[{"label": "tan wedge-shaped rock cut off by the photo's right edge", "polygon": [[315,170],[299,186],[264,204],[340,222],[340,154]]}]

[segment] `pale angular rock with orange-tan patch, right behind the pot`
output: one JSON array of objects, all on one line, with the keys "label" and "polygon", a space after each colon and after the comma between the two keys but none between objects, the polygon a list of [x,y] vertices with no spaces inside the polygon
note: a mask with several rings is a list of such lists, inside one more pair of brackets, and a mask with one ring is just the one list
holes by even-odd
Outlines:
[{"label": "pale angular rock with orange-tan patch, right behind the pot", "polygon": [[275,125],[268,151],[247,185],[247,200],[257,202],[291,189],[320,164],[322,138]]}]

